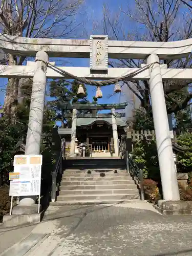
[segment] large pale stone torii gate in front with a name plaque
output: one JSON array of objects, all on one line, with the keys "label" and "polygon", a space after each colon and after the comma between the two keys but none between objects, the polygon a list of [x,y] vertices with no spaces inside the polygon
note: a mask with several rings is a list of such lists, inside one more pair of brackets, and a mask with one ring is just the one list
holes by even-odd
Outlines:
[{"label": "large pale stone torii gate in front with a name plaque", "polygon": [[[162,81],[192,80],[192,72],[190,69],[167,69],[166,65],[160,65],[160,60],[187,57],[192,50],[192,39],[147,42],[108,40],[106,35],[93,35],[89,40],[77,40],[25,38],[3,34],[0,36],[0,48],[5,53],[36,56],[35,62],[28,61],[27,66],[0,66],[0,77],[33,78],[25,151],[27,155],[39,154],[47,78],[69,79],[76,76],[79,79],[92,80],[119,77],[123,77],[123,80],[148,80],[163,198],[180,200]],[[49,64],[49,57],[90,58],[90,67],[58,69],[53,63]],[[108,58],[145,59],[146,66],[143,69],[108,68]],[[27,212],[25,208],[28,208]],[[23,197],[20,199],[18,210],[15,207],[13,214],[33,213],[36,210],[34,197]]]}]

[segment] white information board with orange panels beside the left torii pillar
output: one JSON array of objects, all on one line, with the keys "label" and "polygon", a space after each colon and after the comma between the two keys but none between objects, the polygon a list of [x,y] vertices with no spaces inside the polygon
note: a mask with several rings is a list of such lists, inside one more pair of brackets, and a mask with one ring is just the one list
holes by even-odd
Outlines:
[{"label": "white information board with orange panels beside the left torii pillar", "polygon": [[10,196],[40,195],[42,155],[14,156],[14,172],[10,173]]}]

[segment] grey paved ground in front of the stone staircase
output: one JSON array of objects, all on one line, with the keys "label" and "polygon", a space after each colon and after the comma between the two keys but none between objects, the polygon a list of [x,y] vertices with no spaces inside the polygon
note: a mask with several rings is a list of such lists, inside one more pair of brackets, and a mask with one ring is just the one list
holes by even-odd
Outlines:
[{"label": "grey paved ground in front of the stone staircase", "polygon": [[0,255],[192,256],[191,216],[161,216],[148,203],[50,207],[30,235]]}]

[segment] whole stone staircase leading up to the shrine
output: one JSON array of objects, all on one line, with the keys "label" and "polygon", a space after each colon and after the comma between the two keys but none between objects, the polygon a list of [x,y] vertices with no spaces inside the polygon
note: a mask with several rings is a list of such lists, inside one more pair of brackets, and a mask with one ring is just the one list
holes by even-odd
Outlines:
[{"label": "whole stone staircase leading up to the shrine", "polygon": [[66,160],[57,200],[52,205],[114,204],[140,201],[138,187],[118,157]]}]

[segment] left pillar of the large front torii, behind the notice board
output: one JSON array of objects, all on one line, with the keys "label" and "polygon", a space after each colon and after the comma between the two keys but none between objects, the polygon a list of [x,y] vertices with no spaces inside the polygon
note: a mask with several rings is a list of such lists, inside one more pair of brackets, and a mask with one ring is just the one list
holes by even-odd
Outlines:
[{"label": "left pillar of the large front torii, behind the notice board", "polygon": [[[45,62],[48,61],[48,59],[49,57],[46,52],[39,51],[36,53],[25,155],[39,155],[40,153],[47,82],[47,66]],[[20,197],[18,205],[13,207],[12,214],[36,214],[38,205],[35,201],[36,196]]]}]

